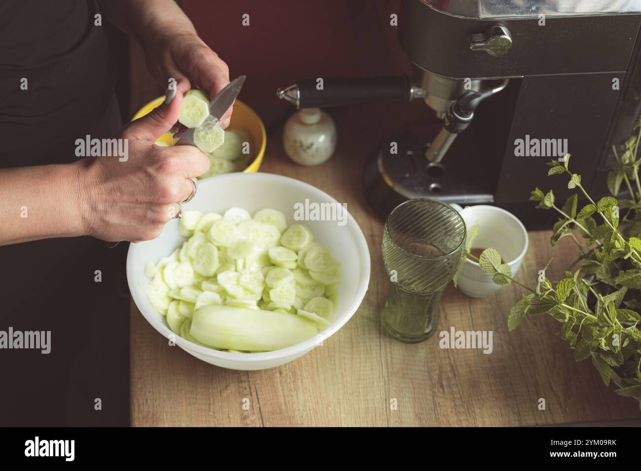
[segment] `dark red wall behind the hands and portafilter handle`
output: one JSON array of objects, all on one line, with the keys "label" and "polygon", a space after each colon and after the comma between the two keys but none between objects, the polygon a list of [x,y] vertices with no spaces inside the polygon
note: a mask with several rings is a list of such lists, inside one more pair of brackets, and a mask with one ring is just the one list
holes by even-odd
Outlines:
[{"label": "dark red wall behind the hands and portafilter handle", "polygon": [[[409,73],[390,14],[396,0],[184,0],[203,40],[246,75],[240,99],[265,124],[288,105],[276,89],[301,78]],[[249,14],[249,26],[242,15]]]}]

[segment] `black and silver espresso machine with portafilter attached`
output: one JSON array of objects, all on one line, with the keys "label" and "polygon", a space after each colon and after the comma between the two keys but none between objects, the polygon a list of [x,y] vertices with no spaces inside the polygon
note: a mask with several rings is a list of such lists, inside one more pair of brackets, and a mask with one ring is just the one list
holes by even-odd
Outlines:
[{"label": "black and silver espresso machine with portafilter attached", "polygon": [[403,0],[412,78],[300,80],[278,96],[298,108],[424,100],[442,126],[405,129],[369,158],[374,210],[385,218],[419,197],[494,204],[533,229],[551,216],[528,201],[535,186],[569,196],[549,160],[572,154],[588,192],[608,194],[612,146],[641,113],[640,28],[641,0]]}]

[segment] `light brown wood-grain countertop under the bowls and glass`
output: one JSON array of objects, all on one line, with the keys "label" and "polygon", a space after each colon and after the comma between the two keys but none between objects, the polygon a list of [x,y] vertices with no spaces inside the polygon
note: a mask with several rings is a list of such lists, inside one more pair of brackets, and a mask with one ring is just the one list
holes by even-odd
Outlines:
[{"label": "light brown wood-grain countertop under the bowls and glass", "polygon": [[[339,145],[331,160],[319,167],[295,165],[277,131],[268,138],[262,171],[301,179],[347,202],[372,259],[362,306],[312,352],[278,368],[246,372],[208,365],[169,346],[132,302],[133,426],[532,426],[640,417],[638,404],[604,386],[589,361],[574,362],[567,342],[554,335],[559,324],[553,318],[528,318],[508,331],[518,286],[469,299],[450,285],[442,297],[438,331],[491,330],[492,354],[440,349],[438,335],[406,344],[384,333],[383,226],[360,183],[363,161],[379,144],[383,124],[363,120],[359,108],[336,114]],[[550,256],[552,278],[574,260],[569,238],[553,249],[549,235],[529,234],[520,279],[534,280]],[[538,409],[540,398],[545,410]],[[396,409],[390,407],[393,399]]]}]

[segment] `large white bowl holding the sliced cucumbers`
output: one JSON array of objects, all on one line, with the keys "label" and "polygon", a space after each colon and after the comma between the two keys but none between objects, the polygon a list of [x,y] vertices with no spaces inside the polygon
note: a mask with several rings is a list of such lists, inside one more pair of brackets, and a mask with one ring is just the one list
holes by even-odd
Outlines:
[{"label": "large white bowl holding the sliced cucumbers", "polygon": [[[245,208],[251,214],[261,208],[274,208],[287,217],[287,224],[301,222],[309,227],[314,240],[329,245],[342,263],[343,279],[338,289],[338,308],[333,322],[315,338],[297,343],[286,349],[265,353],[229,353],[201,347],[176,335],[175,342],[181,349],[207,363],[233,370],[262,370],[278,367],[302,356],[338,331],[358,309],[369,284],[370,260],[365,236],[349,211],[345,211],[347,224],[337,221],[294,220],[294,204],[304,204],[305,199],[317,203],[338,201],[312,185],[293,178],[266,173],[231,173],[199,181],[194,200],[183,205],[183,211],[198,210],[223,213],[232,206]],[[178,220],[171,220],[162,234],[147,242],[131,244],[127,256],[129,290],[138,309],[154,329],[165,338],[172,335],[165,317],[151,307],[145,292],[150,279],[145,275],[148,261],[156,263],[178,248],[184,238],[178,232]]]}]

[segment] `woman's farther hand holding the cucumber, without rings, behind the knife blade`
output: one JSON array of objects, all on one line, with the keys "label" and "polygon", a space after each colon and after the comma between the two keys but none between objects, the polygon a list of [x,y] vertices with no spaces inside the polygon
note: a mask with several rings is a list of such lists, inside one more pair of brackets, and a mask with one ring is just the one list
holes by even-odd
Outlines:
[{"label": "woman's farther hand holding the cucumber, without rings, behind the knife blade", "polygon": [[[163,31],[162,35],[144,45],[147,69],[163,87],[176,80],[176,88],[184,95],[191,88],[204,90],[210,99],[229,83],[229,67],[204,44],[196,31]],[[222,115],[221,128],[229,125],[232,107]],[[173,124],[173,123],[172,123]]]}]

